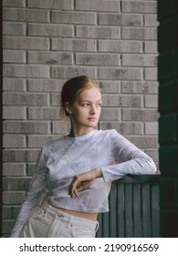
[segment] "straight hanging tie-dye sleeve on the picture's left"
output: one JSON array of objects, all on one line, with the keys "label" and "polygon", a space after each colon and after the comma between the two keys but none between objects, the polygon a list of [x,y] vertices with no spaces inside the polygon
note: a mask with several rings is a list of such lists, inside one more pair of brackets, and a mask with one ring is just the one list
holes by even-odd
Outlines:
[{"label": "straight hanging tie-dye sleeve on the picture's left", "polygon": [[42,150],[38,156],[37,165],[32,176],[31,184],[26,198],[18,213],[16,223],[11,232],[11,238],[20,236],[21,230],[30,216],[31,212],[37,207],[37,204],[44,196],[44,191],[47,187],[47,167],[44,163]]}]

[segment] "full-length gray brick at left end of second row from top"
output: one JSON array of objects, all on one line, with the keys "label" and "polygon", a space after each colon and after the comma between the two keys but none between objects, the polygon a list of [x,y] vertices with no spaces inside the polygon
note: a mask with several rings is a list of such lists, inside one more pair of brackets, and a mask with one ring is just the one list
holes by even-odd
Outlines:
[{"label": "full-length gray brick at left end of second row from top", "polygon": [[4,20],[18,22],[49,22],[49,14],[46,10],[4,8]]}]

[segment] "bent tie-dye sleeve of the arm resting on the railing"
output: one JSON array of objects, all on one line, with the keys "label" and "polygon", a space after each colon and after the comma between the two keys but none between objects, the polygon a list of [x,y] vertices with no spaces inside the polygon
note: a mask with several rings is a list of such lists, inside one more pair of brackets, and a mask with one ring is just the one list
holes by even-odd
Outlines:
[{"label": "bent tie-dye sleeve of the arm resting on the railing", "polygon": [[115,130],[110,131],[108,139],[116,164],[101,167],[105,182],[117,180],[128,174],[154,174],[156,172],[156,165],[152,158]]}]

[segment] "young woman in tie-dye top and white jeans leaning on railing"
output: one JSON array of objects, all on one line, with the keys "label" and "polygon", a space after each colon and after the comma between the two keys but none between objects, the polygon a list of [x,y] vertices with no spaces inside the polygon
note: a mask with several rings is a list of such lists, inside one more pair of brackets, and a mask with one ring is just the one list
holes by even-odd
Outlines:
[{"label": "young woman in tie-dye top and white jeans leaning on railing", "polygon": [[68,80],[61,108],[70,133],[44,144],[11,237],[95,237],[99,212],[109,211],[111,182],[153,174],[152,158],[115,130],[96,130],[101,91],[87,76]]}]

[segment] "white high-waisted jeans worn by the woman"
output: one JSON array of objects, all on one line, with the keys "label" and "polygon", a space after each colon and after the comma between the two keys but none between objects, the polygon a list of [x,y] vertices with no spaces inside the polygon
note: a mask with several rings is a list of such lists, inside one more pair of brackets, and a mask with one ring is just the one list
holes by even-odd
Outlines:
[{"label": "white high-waisted jeans worn by the woman", "polygon": [[58,210],[44,201],[26,220],[21,238],[94,238],[99,222]]}]

